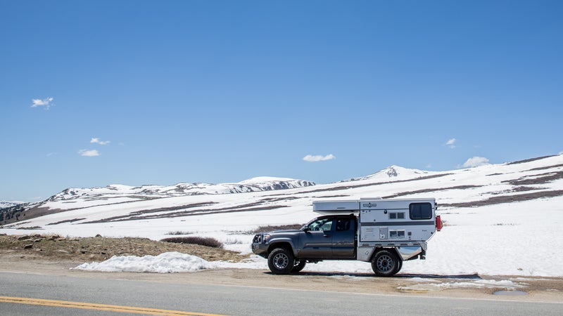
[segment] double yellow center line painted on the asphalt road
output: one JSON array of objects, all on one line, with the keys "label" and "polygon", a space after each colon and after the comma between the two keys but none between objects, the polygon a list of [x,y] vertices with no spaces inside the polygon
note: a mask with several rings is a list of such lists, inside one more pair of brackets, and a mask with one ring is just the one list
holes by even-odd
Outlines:
[{"label": "double yellow center line painted on the asphalt road", "polygon": [[109,310],[113,312],[133,312],[136,314],[146,314],[146,315],[218,316],[215,314],[205,314],[203,312],[182,312],[180,310],[158,310],[156,308],[137,308],[132,306],[80,303],[80,302],[71,302],[71,301],[55,301],[55,300],[44,300],[41,298],[23,298],[23,297],[10,297],[10,296],[0,296],[0,302],[56,306],[56,307],[64,307],[64,308],[82,308],[86,310]]}]

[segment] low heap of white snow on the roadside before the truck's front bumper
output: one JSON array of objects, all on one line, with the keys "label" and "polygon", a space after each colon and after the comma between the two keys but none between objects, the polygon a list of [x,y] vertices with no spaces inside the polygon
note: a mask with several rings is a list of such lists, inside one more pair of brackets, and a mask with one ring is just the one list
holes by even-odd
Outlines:
[{"label": "low heap of white snow on the roadside before the truck's front bumper", "polygon": [[82,263],[75,270],[105,272],[194,272],[214,268],[209,261],[198,256],[165,252],[158,256],[113,256],[103,262]]}]

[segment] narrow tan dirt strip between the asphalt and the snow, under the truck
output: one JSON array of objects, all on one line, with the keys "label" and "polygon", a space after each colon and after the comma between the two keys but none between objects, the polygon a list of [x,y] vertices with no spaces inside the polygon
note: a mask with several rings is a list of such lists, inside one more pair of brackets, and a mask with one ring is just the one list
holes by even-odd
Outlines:
[{"label": "narrow tan dirt strip between the asphalt and the snow, under the truck", "polygon": [[[307,272],[272,275],[268,270],[219,269],[186,273],[92,272],[74,270],[83,262],[26,258],[1,254],[0,271],[69,275],[99,279],[131,279],[187,285],[217,284],[232,287],[263,287],[300,291],[346,292],[364,295],[429,296],[509,301],[563,301],[563,278],[479,275],[396,275],[342,272]],[[503,295],[495,292],[504,291]]]}]

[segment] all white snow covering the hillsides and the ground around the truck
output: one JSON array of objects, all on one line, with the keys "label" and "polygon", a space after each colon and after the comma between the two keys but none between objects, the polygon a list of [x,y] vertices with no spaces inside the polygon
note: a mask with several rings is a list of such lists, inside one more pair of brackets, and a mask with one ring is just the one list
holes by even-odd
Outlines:
[{"label": "all white snow covering the hillsides and the ground around the truck", "polygon": [[[557,155],[517,164],[491,164],[443,172],[391,166],[371,176],[346,182],[232,194],[154,195],[147,198],[137,197],[134,193],[139,194],[148,188],[162,192],[168,192],[168,189],[111,185],[82,189],[78,192],[80,194],[72,195],[72,199],[67,194],[69,199],[45,202],[42,207],[62,211],[25,220],[24,223],[4,225],[0,233],[56,233],[72,237],[101,234],[159,240],[170,237],[170,232],[184,232],[184,235],[214,237],[223,242],[226,249],[248,254],[251,253],[253,238],[251,231],[261,225],[306,223],[317,216],[312,212],[314,200],[393,195],[400,198],[435,197],[437,213],[441,215],[444,228],[429,240],[426,260],[406,261],[400,273],[421,277],[475,273],[563,277],[563,239],[560,237],[563,195],[474,207],[451,206],[498,197],[517,197],[531,192],[560,192],[563,190],[561,177],[526,185],[514,184],[514,181],[562,172],[563,155]],[[284,179],[253,178],[243,182],[255,185],[262,180],[275,182]],[[175,187],[170,187],[170,190]],[[525,187],[526,191],[515,190],[521,187]],[[196,189],[190,190],[195,192],[193,190]],[[204,185],[201,190],[209,192],[209,187]],[[84,193],[86,195],[82,196]],[[107,220],[116,216],[125,220]],[[91,223],[96,220],[103,221]],[[29,229],[33,227],[42,229]],[[223,263],[207,262],[187,254],[162,254],[153,258],[117,257],[111,258],[110,262],[84,263],[77,268],[150,272],[217,268],[267,270],[267,262],[258,256],[243,263]],[[324,261],[308,264],[304,271],[372,273],[371,265],[360,261]]]}]

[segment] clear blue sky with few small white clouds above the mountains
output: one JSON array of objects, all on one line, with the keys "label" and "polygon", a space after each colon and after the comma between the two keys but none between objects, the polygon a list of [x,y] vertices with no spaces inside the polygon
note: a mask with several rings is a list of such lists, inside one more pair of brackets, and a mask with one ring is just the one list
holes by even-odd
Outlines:
[{"label": "clear blue sky with few small white clouds above the mountains", "polygon": [[562,15],[562,1],[0,1],[0,200],[557,154]]}]

